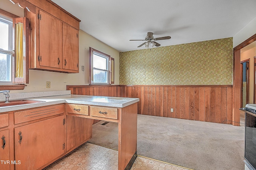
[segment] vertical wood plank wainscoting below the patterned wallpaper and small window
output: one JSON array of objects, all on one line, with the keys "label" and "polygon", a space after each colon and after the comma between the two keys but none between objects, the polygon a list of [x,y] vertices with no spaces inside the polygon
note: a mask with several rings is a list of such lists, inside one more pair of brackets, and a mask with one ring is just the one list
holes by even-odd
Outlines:
[{"label": "vertical wood plank wainscoting below the patterned wallpaper and small window", "polygon": [[233,119],[232,88],[232,85],[67,86],[76,95],[139,98],[138,114],[142,115],[225,124],[232,124]]}]

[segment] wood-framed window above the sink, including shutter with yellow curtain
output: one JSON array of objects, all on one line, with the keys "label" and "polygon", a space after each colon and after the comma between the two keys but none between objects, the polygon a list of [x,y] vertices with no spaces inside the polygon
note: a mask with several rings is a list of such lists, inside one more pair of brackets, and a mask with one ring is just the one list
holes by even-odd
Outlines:
[{"label": "wood-framed window above the sink, including shutter with yellow curtain", "polygon": [[0,9],[0,90],[20,90],[28,83],[28,18]]}]

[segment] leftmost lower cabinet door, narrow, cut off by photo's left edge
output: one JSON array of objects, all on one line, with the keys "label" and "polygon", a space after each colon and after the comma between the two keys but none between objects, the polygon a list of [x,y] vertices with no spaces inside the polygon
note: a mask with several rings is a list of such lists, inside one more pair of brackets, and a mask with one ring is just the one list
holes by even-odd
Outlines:
[{"label": "leftmost lower cabinet door, narrow, cut off by photo's left edge", "polygon": [[[9,130],[0,131],[0,169],[9,170],[11,160],[9,157]],[[8,162],[9,161],[9,162]]]}]

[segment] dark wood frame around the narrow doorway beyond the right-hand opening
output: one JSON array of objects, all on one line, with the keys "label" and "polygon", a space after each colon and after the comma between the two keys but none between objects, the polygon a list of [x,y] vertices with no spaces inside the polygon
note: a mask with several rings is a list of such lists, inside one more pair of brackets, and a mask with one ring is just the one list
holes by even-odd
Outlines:
[{"label": "dark wood frame around the narrow doorway beyond the right-hand opening", "polygon": [[[241,61],[241,87],[243,87],[243,63],[246,63],[246,67],[248,66],[248,69],[246,69],[246,104],[249,103],[249,96],[250,96],[250,93],[249,93],[249,88],[250,88],[250,58],[248,59],[245,59],[244,61]],[[241,94],[242,94],[242,89],[241,88]],[[241,97],[241,105],[240,107],[242,107],[242,101],[243,101],[243,95],[240,95]]]}]

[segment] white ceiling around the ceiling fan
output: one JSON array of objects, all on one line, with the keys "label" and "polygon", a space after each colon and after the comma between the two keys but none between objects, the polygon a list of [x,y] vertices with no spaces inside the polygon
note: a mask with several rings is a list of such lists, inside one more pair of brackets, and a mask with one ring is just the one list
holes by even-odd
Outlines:
[{"label": "white ceiling around the ceiling fan", "polygon": [[52,1],[79,18],[81,30],[118,51],[144,49],[137,47],[142,41],[129,40],[147,32],[172,37],[157,41],[161,46],[233,37],[256,17],[256,0]]}]

